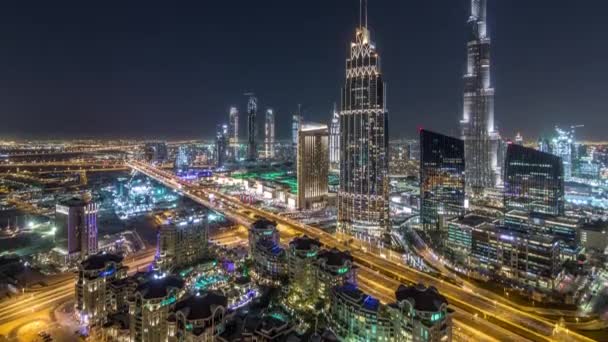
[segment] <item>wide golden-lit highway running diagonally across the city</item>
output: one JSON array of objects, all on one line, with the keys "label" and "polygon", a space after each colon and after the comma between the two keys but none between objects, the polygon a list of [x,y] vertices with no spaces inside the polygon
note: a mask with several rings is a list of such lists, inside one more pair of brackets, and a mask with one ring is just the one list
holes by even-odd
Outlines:
[{"label": "wide golden-lit highway running diagonally across the city", "polygon": [[348,250],[358,264],[379,273],[373,280],[381,282],[382,276],[395,279],[400,283],[424,283],[427,286],[435,286],[448,299],[457,315],[465,313],[477,315],[476,317],[485,320],[488,324],[534,341],[592,341],[576,332],[560,328],[555,322],[537,314],[525,312],[517,308],[516,305],[510,304],[507,300],[497,301],[476,292],[474,289],[447,282],[443,277],[426,274],[407,267],[401,262],[398,255],[387,256],[383,253],[368,250],[356,241],[354,243],[341,241],[320,229],[241,203],[237,198],[214,189],[183,181],[169,172],[159,170],[148,164],[133,161],[129,162],[128,165],[181,192],[195,202],[224,214],[228,219],[238,224],[249,224],[252,218],[247,213],[253,213],[258,217],[277,222],[282,234],[285,232],[292,235],[306,234],[319,239],[327,248]]}]

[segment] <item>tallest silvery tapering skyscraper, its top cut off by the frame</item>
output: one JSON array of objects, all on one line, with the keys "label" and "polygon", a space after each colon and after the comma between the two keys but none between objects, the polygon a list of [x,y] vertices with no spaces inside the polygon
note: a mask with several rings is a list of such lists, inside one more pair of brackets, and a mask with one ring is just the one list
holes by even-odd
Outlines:
[{"label": "tallest silvery tapering skyscraper, its top cut off by the frame", "polygon": [[480,194],[500,180],[497,149],[500,136],[494,125],[494,88],[490,81],[490,37],[486,0],[471,0],[471,40],[467,44],[464,105],[461,120],[467,165],[467,189]]}]

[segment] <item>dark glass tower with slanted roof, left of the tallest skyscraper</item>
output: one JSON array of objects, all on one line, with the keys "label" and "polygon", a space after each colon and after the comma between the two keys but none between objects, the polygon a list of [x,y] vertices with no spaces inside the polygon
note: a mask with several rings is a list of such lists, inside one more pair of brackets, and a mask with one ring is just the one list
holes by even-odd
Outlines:
[{"label": "dark glass tower with slanted roof, left of the tallest skyscraper", "polygon": [[420,131],[420,220],[445,232],[447,220],[465,211],[465,146],[460,139]]}]

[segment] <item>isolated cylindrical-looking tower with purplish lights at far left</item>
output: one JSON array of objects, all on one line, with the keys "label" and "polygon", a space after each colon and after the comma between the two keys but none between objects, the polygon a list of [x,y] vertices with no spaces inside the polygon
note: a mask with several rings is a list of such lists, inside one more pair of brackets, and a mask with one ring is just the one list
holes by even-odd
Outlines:
[{"label": "isolated cylindrical-looking tower with purplish lights at far left", "polygon": [[69,259],[84,259],[97,253],[97,204],[71,198],[55,207],[56,240]]}]

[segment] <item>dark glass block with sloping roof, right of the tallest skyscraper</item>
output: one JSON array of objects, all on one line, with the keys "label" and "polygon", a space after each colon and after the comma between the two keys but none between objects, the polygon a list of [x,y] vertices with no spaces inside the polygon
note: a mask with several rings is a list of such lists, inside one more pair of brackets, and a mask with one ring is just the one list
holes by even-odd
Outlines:
[{"label": "dark glass block with sloping roof, right of the tallest skyscraper", "polygon": [[511,144],[505,164],[507,211],[564,214],[564,165],[560,157]]}]

